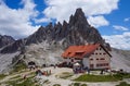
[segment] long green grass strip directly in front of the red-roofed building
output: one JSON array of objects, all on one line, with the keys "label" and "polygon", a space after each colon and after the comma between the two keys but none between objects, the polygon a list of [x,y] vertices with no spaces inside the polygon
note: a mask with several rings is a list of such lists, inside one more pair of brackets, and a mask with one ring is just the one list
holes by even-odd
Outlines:
[{"label": "long green grass strip directly in front of the red-roofed building", "polygon": [[76,82],[117,82],[117,81],[121,81],[122,78],[123,76],[121,76],[120,74],[115,74],[115,75],[83,74],[74,81]]}]

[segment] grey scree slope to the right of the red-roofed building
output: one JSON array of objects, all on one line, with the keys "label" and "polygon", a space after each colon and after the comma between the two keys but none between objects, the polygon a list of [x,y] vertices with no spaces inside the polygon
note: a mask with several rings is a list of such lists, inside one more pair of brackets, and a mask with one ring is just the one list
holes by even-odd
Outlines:
[{"label": "grey scree slope to the right of the red-roofed building", "polygon": [[130,72],[130,51],[113,49],[110,59],[110,66],[115,70],[122,69]]}]

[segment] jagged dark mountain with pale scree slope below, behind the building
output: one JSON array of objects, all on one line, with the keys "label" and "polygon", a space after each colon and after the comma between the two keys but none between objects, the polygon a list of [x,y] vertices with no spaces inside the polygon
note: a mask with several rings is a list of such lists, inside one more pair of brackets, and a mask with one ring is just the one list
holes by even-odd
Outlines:
[{"label": "jagged dark mountain with pale scree slope below, behind the building", "polygon": [[[42,66],[42,64],[55,64],[63,61],[61,54],[67,47],[87,44],[101,44],[110,50],[109,44],[105,42],[99,30],[88,23],[84,13],[79,8],[74,15],[70,15],[68,23],[64,21],[63,24],[58,22],[54,25],[50,23],[41,26],[30,36],[5,46],[0,50],[0,56],[12,54],[12,65],[21,59],[25,63],[35,61],[36,64]],[[117,56],[117,52],[114,51],[113,54]]]}]

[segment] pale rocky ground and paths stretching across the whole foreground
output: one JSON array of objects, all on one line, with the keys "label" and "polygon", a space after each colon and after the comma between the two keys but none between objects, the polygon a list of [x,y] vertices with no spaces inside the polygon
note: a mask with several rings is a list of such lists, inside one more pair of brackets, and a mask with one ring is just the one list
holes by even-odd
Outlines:
[{"label": "pale rocky ground and paths stretching across the whole foreground", "polygon": [[[74,78],[81,75],[81,74],[73,74],[73,70],[68,69],[68,67],[55,67],[54,69],[51,66],[51,67],[44,67],[44,69],[39,69],[39,70],[51,71],[51,75],[49,75],[49,76],[44,76],[44,75],[35,76],[35,79],[38,81],[38,83],[41,84],[42,86],[53,86],[54,84],[60,84],[61,86],[69,86],[72,83],[76,83],[73,81]],[[28,77],[29,74],[32,72],[36,72],[36,70],[25,71],[22,73],[15,73],[15,74],[8,75],[3,79],[0,79],[0,86],[5,86],[5,82],[23,78],[23,75],[25,75],[25,74]],[[64,76],[66,73],[70,73],[73,75],[67,78],[62,78],[62,76]],[[95,73],[95,72],[93,72],[93,73]],[[100,74],[100,72],[96,72],[96,74]],[[20,76],[20,77],[15,78],[16,76]],[[88,82],[78,82],[78,83],[87,84],[88,86],[116,86],[120,82],[122,82],[122,81],[103,82],[103,83],[88,83]],[[130,78],[123,79],[123,82],[127,82],[128,84],[130,84]]]}]

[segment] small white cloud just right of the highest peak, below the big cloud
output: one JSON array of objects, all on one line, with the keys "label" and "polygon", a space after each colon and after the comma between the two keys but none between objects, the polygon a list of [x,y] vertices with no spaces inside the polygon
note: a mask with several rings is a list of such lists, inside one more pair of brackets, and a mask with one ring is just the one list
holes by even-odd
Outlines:
[{"label": "small white cloud just right of the highest peak, below the big cloud", "polygon": [[104,19],[104,16],[89,16],[88,22],[95,27],[108,25],[109,23]]}]

